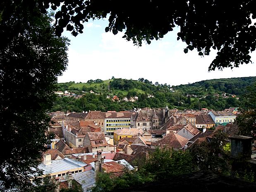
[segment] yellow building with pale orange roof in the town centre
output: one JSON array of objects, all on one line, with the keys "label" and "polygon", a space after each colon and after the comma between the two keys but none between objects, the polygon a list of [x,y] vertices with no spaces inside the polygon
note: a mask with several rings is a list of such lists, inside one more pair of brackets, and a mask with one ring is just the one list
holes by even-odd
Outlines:
[{"label": "yellow building with pale orange roof in the town centre", "polygon": [[134,137],[136,135],[142,135],[142,130],[137,128],[122,128],[114,131],[114,143],[118,143],[123,137]]}]

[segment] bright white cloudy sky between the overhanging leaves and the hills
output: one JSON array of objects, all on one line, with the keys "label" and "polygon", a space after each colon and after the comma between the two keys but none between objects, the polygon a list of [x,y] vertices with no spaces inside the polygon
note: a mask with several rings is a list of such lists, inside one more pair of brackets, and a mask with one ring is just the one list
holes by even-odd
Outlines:
[{"label": "bright white cloudy sky between the overhanging leaves and the hills", "polygon": [[144,42],[138,47],[123,39],[124,33],[105,33],[106,26],[108,21],[100,19],[85,23],[84,33],[77,37],[69,31],[63,33],[70,40],[69,63],[58,78],[59,83],[86,83],[90,79],[107,80],[114,76],[133,80],[144,78],[172,86],[216,78],[256,76],[256,52],[251,53],[252,64],[208,72],[216,52],[213,50],[204,57],[196,50],[185,54],[186,43],[177,41],[179,28],[160,40],[153,40],[150,45]]}]

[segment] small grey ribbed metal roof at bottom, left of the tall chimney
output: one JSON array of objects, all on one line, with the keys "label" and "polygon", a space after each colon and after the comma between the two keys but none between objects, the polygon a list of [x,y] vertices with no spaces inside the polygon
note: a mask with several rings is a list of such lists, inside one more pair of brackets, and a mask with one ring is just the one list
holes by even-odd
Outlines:
[{"label": "small grey ribbed metal roof at bottom, left of the tall chimney", "polygon": [[72,174],[72,176],[74,180],[81,185],[84,192],[95,185],[95,175],[93,170]]}]

